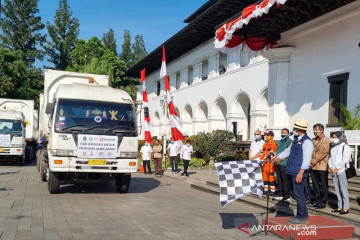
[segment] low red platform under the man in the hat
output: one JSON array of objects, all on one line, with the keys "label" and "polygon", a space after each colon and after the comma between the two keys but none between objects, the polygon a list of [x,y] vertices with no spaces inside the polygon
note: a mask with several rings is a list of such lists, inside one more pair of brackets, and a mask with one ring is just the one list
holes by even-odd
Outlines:
[{"label": "low red platform under the man in the hat", "polygon": [[[323,216],[309,216],[306,225],[289,225],[286,223],[289,219],[269,218],[268,231],[286,240],[349,239],[355,234],[355,226]],[[265,225],[265,219],[262,224]]]}]

